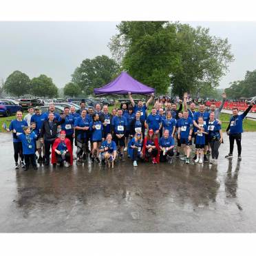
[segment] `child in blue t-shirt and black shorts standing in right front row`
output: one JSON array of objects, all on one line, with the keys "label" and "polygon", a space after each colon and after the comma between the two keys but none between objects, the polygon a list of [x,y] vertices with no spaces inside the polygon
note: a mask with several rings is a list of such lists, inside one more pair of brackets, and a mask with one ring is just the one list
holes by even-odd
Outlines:
[{"label": "child in blue t-shirt and black shorts standing in right front row", "polygon": [[204,125],[204,118],[202,116],[198,118],[198,126],[204,129],[195,129],[195,153],[197,156],[195,162],[202,164],[204,159],[205,135],[208,134],[208,127]]}]

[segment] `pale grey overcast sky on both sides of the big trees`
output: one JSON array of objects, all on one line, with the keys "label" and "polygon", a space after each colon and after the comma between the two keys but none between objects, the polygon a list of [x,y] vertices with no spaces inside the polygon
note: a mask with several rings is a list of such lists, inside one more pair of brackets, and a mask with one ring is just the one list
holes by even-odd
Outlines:
[{"label": "pale grey overcast sky on both sides of the big trees", "polygon": [[[228,38],[235,61],[220,87],[244,78],[256,69],[256,22],[186,22],[210,28],[210,34]],[[85,58],[110,56],[107,43],[118,22],[0,22],[0,78],[14,70],[33,78],[52,77],[63,87]]]}]

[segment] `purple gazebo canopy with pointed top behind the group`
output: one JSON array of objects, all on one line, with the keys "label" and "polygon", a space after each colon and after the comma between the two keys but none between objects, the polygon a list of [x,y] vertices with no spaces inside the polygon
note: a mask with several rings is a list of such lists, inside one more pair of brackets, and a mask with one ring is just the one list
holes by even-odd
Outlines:
[{"label": "purple gazebo canopy with pointed top behind the group", "polygon": [[136,81],[127,72],[122,73],[114,80],[100,88],[94,89],[94,94],[151,94],[155,89]]}]

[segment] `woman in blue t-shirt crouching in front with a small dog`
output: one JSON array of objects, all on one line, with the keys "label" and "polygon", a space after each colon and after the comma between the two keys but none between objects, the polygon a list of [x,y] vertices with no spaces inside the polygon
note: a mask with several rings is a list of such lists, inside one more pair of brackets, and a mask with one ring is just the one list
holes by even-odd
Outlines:
[{"label": "woman in blue t-shirt crouching in front with a small dog", "polygon": [[116,142],[112,140],[111,134],[107,134],[106,140],[100,146],[100,154],[102,163],[105,164],[105,161],[112,164],[114,168],[114,160],[116,160]]}]

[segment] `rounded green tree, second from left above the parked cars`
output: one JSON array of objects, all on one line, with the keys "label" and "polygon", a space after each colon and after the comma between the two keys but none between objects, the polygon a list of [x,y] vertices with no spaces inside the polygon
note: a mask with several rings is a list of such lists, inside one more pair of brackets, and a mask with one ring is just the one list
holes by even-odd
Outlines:
[{"label": "rounded green tree, second from left above the parked cars", "polygon": [[31,93],[38,97],[57,97],[58,88],[52,82],[52,78],[41,74],[31,80]]}]

